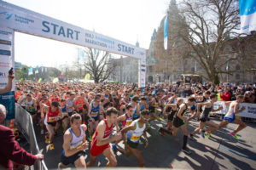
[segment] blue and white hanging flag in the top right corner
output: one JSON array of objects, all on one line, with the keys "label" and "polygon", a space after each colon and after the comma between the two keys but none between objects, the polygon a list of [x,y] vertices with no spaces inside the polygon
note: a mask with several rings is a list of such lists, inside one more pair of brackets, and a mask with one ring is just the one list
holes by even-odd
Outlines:
[{"label": "blue and white hanging flag in the top right corner", "polygon": [[239,0],[241,33],[256,31],[256,1]]}]

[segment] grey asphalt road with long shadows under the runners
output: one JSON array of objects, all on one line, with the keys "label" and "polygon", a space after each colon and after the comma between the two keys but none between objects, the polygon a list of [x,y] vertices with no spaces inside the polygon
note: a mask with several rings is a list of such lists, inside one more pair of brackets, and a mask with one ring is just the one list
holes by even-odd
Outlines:
[{"label": "grey asphalt road with long shadows under the runners", "polygon": [[[219,123],[217,118],[212,118]],[[149,146],[144,149],[143,140],[139,144],[146,167],[173,168],[173,169],[256,169],[256,123],[247,123],[247,127],[239,134],[240,139],[236,140],[230,136],[230,132],[236,129],[237,125],[230,123],[227,127],[212,133],[210,139],[202,139],[200,134],[195,138],[197,142],[189,140],[188,147],[192,151],[191,155],[186,155],[181,151],[183,144],[183,133],[178,131],[176,137],[163,137],[157,133],[157,129],[163,122],[151,122],[148,130]],[[199,122],[189,123],[188,130],[192,132],[199,126]],[[56,169],[61,160],[63,144],[62,129],[55,136],[55,150],[49,150],[49,144],[44,144],[44,136],[38,135],[38,145],[44,154],[44,161],[49,169]],[[119,147],[124,147],[119,143]],[[125,157],[117,153],[118,167],[137,167],[137,160],[134,156]],[[90,160],[89,150],[86,150],[85,161]],[[104,156],[98,156],[96,168],[104,167],[108,160]],[[71,166],[72,167],[72,166]]]}]

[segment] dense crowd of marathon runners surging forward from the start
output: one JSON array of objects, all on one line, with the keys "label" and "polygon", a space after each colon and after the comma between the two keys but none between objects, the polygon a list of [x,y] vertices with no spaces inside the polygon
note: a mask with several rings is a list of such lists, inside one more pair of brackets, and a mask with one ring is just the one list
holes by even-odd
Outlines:
[{"label": "dense crowd of marathon runners surging forward from the start", "polygon": [[[63,128],[59,168],[69,164],[92,167],[100,154],[108,158],[108,167],[115,167],[117,151],[125,156],[134,155],[138,166],[143,167],[143,156],[137,150],[139,141],[143,138],[145,148],[148,147],[146,131],[150,122],[163,119],[167,124],[158,129],[159,133],[175,136],[180,128],[181,150],[186,154],[191,153],[187,142],[196,141],[195,133],[201,133],[201,138],[211,138],[211,133],[230,122],[238,124],[230,135],[239,139],[236,133],[246,124],[236,114],[245,110],[241,102],[254,103],[256,94],[253,85],[183,85],[183,82],[148,84],[146,88],[137,88],[136,84],[16,82],[15,87],[16,102],[41,127],[49,150],[55,149],[55,133]],[[229,110],[223,122],[216,124],[210,120],[210,113],[223,109],[213,107],[220,99]],[[200,122],[194,132],[188,132],[186,127],[191,120]],[[119,147],[120,142],[124,142],[125,148]],[[90,161],[85,162],[87,149]]]}]

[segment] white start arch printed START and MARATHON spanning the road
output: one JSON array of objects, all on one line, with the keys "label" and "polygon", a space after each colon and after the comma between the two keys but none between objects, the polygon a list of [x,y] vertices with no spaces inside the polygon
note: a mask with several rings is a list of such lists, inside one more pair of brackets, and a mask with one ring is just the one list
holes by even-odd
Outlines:
[{"label": "white start arch printed START and MARATHON spanning the road", "polygon": [[[43,14],[38,14],[26,8],[20,8],[2,1],[0,2],[0,29],[0,36],[2,34],[6,36],[8,29],[9,32],[20,31],[38,37],[46,37],[138,59],[138,86],[140,88],[145,87],[146,50],[143,48],[137,48],[134,45],[98,34],[95,31],[88,31],[79,26],[73,26],[61,20],[55,20]],[[14,33],[12,33],[11,36],[13,37],[12,39],[14,39]],[[3,38],[0,39],[4,40]],[[9,42],[10,40],[6,39],[6,41]],[[0,43],[0,48],[2,44],[3,43]],[[13,47],[10,52],[14,51],[14,43],[12,42],[11,44]],[[14,60],[14,53],[9,54],[12,55],[12,59]],[[3,54],[0,54],[1,60],[5,60],[3,58],[6,57],[6,55],[3,56],[3,58],[2,55]],[[14,61],[12,62],[14,63]],[[10,64],[10,66],[11,65],[12,64]],[[2,66],[0,65],[0,69],[1,68]]]}]

